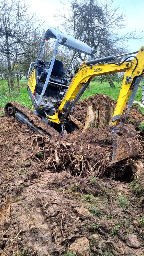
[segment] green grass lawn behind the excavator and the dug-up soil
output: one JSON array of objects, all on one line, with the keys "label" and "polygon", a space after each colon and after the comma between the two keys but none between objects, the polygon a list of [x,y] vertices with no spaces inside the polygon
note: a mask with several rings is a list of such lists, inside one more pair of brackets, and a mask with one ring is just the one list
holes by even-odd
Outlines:
[{"label": "green grass lawn behind the excavator and the dug-up soil", "polygon": [[[106,94],[112,99],[117,100],[120,92],[120,88],[121,88],[121,83],[118,84],[117,82],[115,82],[115,86],[116,88],[111,88],[109,85],[109,82],[107,81],[103,83],[91,82],[90,92],[86,90],[82,95],[81,100],[85,99],[86,97],[88,98],[90,95],[96,94],[96,93]],[[2,90],[2,89],[5,89],[5,90]],[[6,102],[10,100],[15,100],[15,101],[19,101],[20,103],[25,105],[27,108],[30,108],[32,106],[32,102],[28,97],[26,80],[20,81],[20,91],[21,91],[21,94],[18,94],[17,97],[7,97],[8,93],[7,93],[7,87],[5,86],[5,81],[0,80],[0,107],[4,108]],[[141,98],[142,98],[142,81],[141,81],[140,87],[138,88],[135,100],[141,101]],[[144,113],[144,109],[143,108],[140,108],[140,109]]]}]

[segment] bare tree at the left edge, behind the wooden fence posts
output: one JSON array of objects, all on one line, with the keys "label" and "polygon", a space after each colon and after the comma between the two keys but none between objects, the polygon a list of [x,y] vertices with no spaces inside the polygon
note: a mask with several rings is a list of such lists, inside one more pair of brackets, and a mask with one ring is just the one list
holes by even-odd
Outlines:
[{"label": "bare tree at the left edge, behind the wooden fence posts", "polygon": [[[23,45],[29,44],[29,37],[36,29],[34,27],[41,22],[36,14],[28,13],[29,5],[22,0],[0,0],[0,53],[7,58],[9,76],[13,76],[13,70],[17,59],[24,55]],[[11,87],[14,88],[11,79]]]}]

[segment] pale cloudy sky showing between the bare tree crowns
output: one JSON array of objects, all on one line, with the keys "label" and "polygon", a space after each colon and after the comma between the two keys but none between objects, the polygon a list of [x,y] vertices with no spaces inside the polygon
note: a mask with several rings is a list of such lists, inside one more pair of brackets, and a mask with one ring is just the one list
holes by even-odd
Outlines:
[{"label": "pale cloudy sky showing between the bare tree crowns", "polygon": [[[26,4],[29,4],[29,0],[25,0]],[[62,0],[63,2],[63,0]],[[65,0],[66,6],[68,7],[68,2]],[[101,0],[104,3],[104,0]],[[109,1],[108,1],[109,2]],[[46,21],[42,28],[47,29],[48,27],[57,27],[60,25],[60,20],[53,17],[56,13],[56,9],[62,11],[62,3],[59,0],[31,0],[30,12],[37,12],[39,17],[43,17]],[[120,5],[118,13],[121,14],[122,10],[127,17],[128,25],[125,29],[119,31],[119,33],[127,33],[132,29],[136,28],[137,34],[141,33],[144,24],[144,1],[143,0],[114,0],[113,7]],[[144,32],[142,33],[144,37]],[[144,40],[131,40],[127,43],[131,51],[139,50],[141,46],[144,45]]]}]

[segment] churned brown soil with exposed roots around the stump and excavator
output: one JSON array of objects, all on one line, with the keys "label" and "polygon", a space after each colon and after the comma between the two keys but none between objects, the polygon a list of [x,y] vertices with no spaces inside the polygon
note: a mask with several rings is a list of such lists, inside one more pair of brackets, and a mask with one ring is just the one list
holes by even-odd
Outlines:
[{"label": "churned brown soil with exposed roots around the stump and excavator", "polygon": [[52,140],[1,111],[0,255],[144,255],[143,121],[134,105],[139,155],[108,167],[108,125]]}]

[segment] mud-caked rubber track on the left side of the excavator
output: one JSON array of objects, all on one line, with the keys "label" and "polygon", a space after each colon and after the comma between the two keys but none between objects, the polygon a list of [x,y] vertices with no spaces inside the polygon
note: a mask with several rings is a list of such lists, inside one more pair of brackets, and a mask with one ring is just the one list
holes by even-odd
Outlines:
[{"label": "mud-caked rubber track on the left side of the excavator", "polygon": [[40,117],[38,117],[31,110],[27,109],[18,101],[9,101],[6,103],[6,105],[7,104],[11,104],[16,110],[23,113],[30,120],[30,122],[32,122],[36,127],[41,129],[42,132],[46,132],[51,138],[55,139],[60,137],[60,134],[53,127],[45,123]]}]

